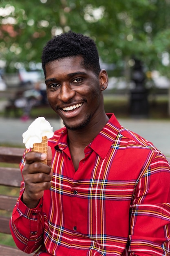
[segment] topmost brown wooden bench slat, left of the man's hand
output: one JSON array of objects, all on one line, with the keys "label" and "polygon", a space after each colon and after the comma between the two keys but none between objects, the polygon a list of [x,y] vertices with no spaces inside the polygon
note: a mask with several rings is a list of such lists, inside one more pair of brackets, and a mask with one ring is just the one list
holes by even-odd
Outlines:
[{"label": "topmost brown wooden bench slat, left of the man's hand", "polygon": [[18,164],[21,161],[24,148],[0,147],[0,162]]}]

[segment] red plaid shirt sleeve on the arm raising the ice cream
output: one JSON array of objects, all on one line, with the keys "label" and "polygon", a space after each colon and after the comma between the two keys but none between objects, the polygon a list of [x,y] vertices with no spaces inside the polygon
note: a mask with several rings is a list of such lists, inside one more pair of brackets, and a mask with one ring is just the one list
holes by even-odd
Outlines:
[{"label": "red plaid shirt sleeve on the arm raising the ice cream", "polygon": [[[21,171],[25,165],[24,155],[20,163]],[[42,245],[44,226],[42,216],[43,198],[40,199],[40,202],[35,209],[29,209],[21,200],[23,191],[24,182],[22,181],[20,196],[13,209],[9,226],[17,247],[26,253],[31,253]]]}]

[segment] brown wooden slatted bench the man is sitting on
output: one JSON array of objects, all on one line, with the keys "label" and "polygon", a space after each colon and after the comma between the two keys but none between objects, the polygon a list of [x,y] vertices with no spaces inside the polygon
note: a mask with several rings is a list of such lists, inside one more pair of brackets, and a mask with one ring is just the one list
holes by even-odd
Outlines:
[{"label": "brown wooden slatted bench the man is sitting on", "polygon": [[[22,180],[19,163],[21,161],[24,149],[23,148],[9,148],[0,147],[0,162],[18,164],[16,167],[0,167],[0,185],[7,187],[20,188]],[[170,163],[170,157],[168,157]],[[0,195],[0,210],[7,212],[13,211],[13,207],[18,197],[9,195]],[[10,217],[0,215],[0,233],[11,234],[9,229]],[[10,247],[7,245],[0,245],[0,255],[3,256],[26,256],[28,254],[20,251],[18,248]],[[29,254],[33,255],[33,254]]]}]

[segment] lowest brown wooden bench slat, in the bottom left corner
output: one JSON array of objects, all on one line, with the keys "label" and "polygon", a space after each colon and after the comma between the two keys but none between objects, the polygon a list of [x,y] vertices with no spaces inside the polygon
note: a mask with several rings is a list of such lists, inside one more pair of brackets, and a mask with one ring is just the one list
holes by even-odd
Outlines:
[{"label": "lowest brown wooden bench slat, in the bottom left corner", "polygon": [[3,256],[33,256],[34,254],[26,254],[18,248],[10,247],[7,245],[0,245],[0,255]]}]

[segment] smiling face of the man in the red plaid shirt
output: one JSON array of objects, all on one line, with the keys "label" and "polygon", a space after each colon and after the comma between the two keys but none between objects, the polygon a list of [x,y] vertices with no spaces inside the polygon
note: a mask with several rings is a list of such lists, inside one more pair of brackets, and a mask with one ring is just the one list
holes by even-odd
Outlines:
[{"label": "smiling face of the man in the red plaid shirt", "polygon": [[103,108],[99,78],[83,67],[81,56],[48,63],[46,91],[51,108],[70,130],[93,124]]}]

